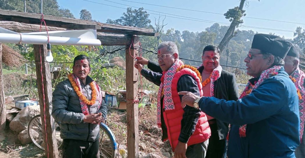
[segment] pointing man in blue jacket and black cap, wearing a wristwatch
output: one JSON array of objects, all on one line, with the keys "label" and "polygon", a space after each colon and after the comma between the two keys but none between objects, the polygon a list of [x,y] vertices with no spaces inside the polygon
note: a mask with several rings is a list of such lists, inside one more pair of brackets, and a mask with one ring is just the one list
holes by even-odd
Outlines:
[{"label": "pointing man in blue jacket and black cap, wearing a wristwatch", "polygon": [[181,106],[231,123],[229,158],[295,158],[300,144],[300,117],[296,87],[284,71],[291,43],[278,36],[254,35],[245,58],[249,80],[239,100],[226,101],[179,92]]}]

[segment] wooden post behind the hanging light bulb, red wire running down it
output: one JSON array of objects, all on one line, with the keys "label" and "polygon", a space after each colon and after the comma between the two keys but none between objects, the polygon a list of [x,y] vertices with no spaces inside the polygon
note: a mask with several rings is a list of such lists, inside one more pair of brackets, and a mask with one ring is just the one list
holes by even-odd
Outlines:
[{"label": "wooden post behind the hanging light bulb, red wire running down it", "polygon": [[[42,133],[43,140],[45,144],[45,154],[49,158],[57,158],[58,150],[55,135],[55,124],[54,119],[50,115],[50,102],[52,101],[52,85],[51,85],[51,73],[50,66],[48,62],[45,62],[45,56],[47,55],[46,45],[33,45],[35,65],[36,65],[36,75],[37,75],[37,86],[39,94],[39,104],[40,104],[40,115],[42,123]],[[40,59],[41,55],[41,59]],[[41,61],[41,62],[40,62]],[[42,72],[41,72],[42,67]],[[42,87],[42,79],[43,86]],[[44,95],[44,96],[43,96]],[[45,98],[45,99],[44,99]],[[45,100],[45,102],[43,102]],[[45,107],[44,107],[45,104]],[[45,130],[46,125],[46,130]],[[47,146],[48,145],[48,146]]]}]

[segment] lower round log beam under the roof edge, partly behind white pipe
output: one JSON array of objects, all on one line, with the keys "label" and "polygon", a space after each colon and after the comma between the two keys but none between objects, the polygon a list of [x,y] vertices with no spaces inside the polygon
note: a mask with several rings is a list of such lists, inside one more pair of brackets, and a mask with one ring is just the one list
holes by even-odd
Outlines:
[{"label": "lower round log beam under the roof edge, partly behind white pipe", "polygon": [[[24,24],[20,22],[12,21],[0,21],[0,27],[9,29],[15,32],[38,32],[40,25]],[[65,31],[70,29],[47,26],[48,31]],[[45,27],[41,28],[41,31],[45,31]],[[99,39],[102,45],[130,45],[132,35],[118,35],[97,32],[97,39]]]}]

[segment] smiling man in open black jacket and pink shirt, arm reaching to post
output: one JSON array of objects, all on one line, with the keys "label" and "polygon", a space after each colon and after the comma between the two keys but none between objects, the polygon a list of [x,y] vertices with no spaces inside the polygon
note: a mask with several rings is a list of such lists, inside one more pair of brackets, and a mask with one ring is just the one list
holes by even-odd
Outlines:
[{"label": "smiling man in open black jacket and pink shirt, arm reaching to post", "polygon": [[[236,79],[234,74],[222,70],[219,64],[220,50],[217,46],[208,45],[203,49],[202,64],[198,71],[203,80],[203,96],[214,96],[218,99],[237,101],[239,93],[237,89]],[[148,68],[154,72],[160,73],[159,64],[144,59],[138,58],[137,63],[148,65]],[[226,157],[226,136],[229,128],[228,123],[207,116],[211,136],[209,138],[208,150],[206,158],[222,158]]]}]

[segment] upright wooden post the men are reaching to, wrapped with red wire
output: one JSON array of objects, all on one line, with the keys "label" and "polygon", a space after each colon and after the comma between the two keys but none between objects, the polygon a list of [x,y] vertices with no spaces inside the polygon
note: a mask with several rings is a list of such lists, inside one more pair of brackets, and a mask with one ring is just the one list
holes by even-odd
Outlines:
[{"label": "upright wooden post the men are reaching to, wrapped with red wire", "polygon": [[[134,46],[139,45],[139,36],[133,36]],[[138,99],[138,70],[135,69],[135,56],[138,52],[130,45],[126,49],[126,111],[127,111],[127,157],[138,158],[139,150],[139,126],[138,126],[138,104],[133,100]],[[131,56],[132,55],[132,56]]]}]

